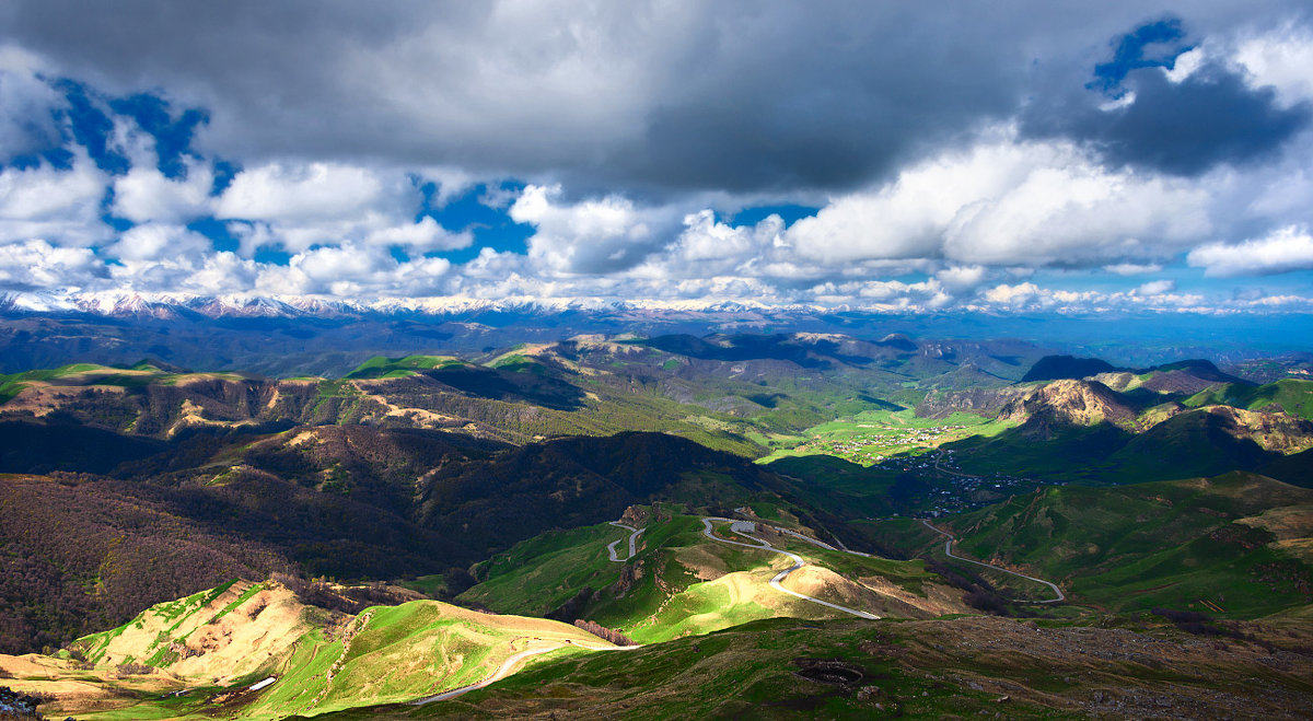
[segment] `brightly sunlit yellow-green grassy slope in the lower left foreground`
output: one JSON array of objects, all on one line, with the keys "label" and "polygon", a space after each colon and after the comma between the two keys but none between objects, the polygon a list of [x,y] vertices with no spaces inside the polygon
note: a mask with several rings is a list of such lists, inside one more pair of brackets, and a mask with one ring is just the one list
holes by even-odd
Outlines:
[{"label": "brightly sunlit yellow-green grassy slope in the lower left foreground", "polygon": [[[374,607],[351,617],[301,605],[286,590],[270,596],[265,588],[239,582],[158,604],[118,629],[75,644],[93,667],[80,670],[49,659],[49,671],[18,675],[11,683],[20,691],[41,692],[76,680],[110,693],[108,703],[79,705],[74,700],[59,708],[79,718],[206,718],[215,697],[239,692],[223,701],[226,716],[274,720],[407,701],[466,686],[523,650],[566,645],[553,651],[562,655],[571,647],[578,653],[579,645],[608,646],[590,633],[544,619],[486,615],[439,601]],[[269,644],[268,638],[282,641]],[[183,658],[169,650],[173,644],[206,653]],[[150,684],[123,680],[116,667],[130,662],[147,662],[171,676],[152,675]],[[268,676],[278,680],[259,693],[242,692]],[[192,691],[163,697],[181,688]]]}]

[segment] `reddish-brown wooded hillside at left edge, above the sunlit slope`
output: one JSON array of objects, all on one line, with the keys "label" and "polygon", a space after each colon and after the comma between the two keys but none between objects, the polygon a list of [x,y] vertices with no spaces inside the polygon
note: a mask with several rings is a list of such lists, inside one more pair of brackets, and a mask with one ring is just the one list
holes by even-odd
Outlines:
[{"label": "reddish-brown wooded hillside at left edge, above the sunlit slope", "polygon": [[198,588],[289,569],[268,545],[140,490],[84,475],[0,477],[0,651],[59,645]]}]

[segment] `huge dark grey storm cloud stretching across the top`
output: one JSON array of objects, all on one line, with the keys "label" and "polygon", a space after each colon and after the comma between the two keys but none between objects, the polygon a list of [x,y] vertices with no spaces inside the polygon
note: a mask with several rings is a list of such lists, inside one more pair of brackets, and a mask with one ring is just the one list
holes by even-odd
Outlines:
[{"label": "huge dark grey storm cloud stretching across the top", "polygon": [[[655,197],[851,189],[1015,117],[1037,89],[1090,92],[1098,46],[1145,13],[1092,5],[41,0],[7,4],[0,24],[106,92],[204,108],[198,143],[223,158]],[[1195,14],[1207,29],[1245,13]]]}]

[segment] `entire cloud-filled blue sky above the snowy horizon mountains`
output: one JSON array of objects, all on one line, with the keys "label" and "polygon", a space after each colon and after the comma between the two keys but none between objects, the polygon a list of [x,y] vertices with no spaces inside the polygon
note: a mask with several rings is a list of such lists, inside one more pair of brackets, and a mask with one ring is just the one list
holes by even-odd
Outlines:
[{"label": "entire cloud-filled blue sky above the snowy horizon mountains", "polygon": [[0,4],[0,293],[1313,311],[1304,3]]}]

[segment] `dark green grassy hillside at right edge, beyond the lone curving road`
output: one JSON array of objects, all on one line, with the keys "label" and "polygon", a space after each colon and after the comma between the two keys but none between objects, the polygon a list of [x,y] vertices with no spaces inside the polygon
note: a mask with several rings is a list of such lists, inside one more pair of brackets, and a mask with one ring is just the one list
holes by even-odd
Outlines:
[{"label": "dark green grassy hillside at right edge, beyond the lone curving road", "polygon": [[[1309,567],[1233,523],[1308,503],[1313,491],[1249,474],[1115,489],[1053,487],[955,519],[958,548],[1061,579],[1075,603],[1187,608],[1234,616],[1309,603]],[[1201,607],[1201,605],[1200,605]]]}]

